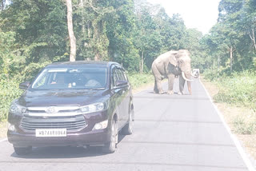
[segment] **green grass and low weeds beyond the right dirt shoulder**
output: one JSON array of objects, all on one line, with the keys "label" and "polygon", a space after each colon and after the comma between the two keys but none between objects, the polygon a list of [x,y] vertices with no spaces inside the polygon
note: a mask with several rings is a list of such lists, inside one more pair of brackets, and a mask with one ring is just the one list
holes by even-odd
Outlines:
[{"label": "green grass and low weeds beyond the right dirt shoulder", "polygon": [[243,107],[247,113],[238,113],[232,121],[234,132],[239,134],[256,133],[256,74],[244,71],[233,73],[230,76],[219,76],[207,72],[205,78],[218,85],[219,92],[214,101],[229,105]]}]

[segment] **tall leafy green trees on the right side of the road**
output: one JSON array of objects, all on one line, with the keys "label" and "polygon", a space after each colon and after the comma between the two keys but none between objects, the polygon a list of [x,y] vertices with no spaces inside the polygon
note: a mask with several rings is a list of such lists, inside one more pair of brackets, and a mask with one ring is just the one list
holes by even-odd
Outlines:
[{"label": "tall leafy green trees on the right side of the road", "polygon": [[204,36],[209,68],[219,74],[255,70],[256,2],[222,0],[218,6],[218,23]]}]

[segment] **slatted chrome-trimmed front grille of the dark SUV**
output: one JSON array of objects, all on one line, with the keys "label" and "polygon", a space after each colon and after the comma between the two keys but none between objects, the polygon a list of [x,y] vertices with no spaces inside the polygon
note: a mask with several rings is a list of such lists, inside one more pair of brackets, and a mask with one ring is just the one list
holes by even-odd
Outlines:
[{"label": "slatted chrome-trimmed front grille of the dark SUV", "polygon": [[78,131],[87,126],[82,115],[70,117],[34,117],[24,116],[20,127],[27,131],[35,129],[67,129],[68,131]]}]

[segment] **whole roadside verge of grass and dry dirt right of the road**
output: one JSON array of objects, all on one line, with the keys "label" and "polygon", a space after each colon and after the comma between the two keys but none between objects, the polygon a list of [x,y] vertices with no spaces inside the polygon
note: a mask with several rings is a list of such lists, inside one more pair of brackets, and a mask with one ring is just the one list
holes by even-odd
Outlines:
[{"label": "whole roadside verge of grass and dry dirt right of the road", "polygon": [[202,79],[202,83],[214,99],[232,133],[238,137],[254,159],[256,159],[255,81],[254,74],[238,74],[232,78],[214,79],[211,82]]}]

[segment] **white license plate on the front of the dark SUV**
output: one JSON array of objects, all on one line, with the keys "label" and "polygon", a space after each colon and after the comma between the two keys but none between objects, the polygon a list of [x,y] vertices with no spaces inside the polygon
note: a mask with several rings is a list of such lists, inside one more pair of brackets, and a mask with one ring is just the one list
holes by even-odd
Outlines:
[{"label": "white license plate on the front of the dark SUV", "polygon": [[66,137],[66,129],[35,129],[35,137]]}]

